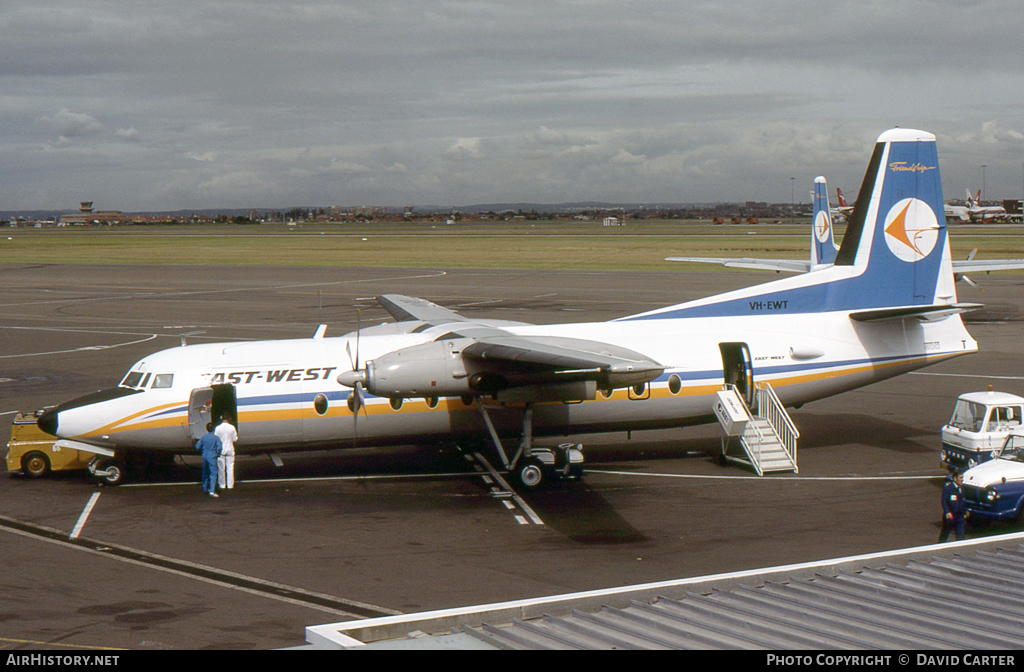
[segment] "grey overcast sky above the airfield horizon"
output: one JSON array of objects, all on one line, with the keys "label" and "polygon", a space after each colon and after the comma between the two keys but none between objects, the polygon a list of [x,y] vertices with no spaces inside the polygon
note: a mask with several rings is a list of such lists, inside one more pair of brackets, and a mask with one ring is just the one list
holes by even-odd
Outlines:
[{"label": "grey overcast sky above the airfield horizon", "polygon": [[[5,0],[0,210],[1024,188],[1020,0]],[[796,178],[791,181],[791,177]]]}]

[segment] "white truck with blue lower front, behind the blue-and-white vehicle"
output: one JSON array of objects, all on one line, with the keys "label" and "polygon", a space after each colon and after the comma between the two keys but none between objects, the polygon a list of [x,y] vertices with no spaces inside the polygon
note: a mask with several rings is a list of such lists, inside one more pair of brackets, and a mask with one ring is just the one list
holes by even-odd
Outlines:
[{"label": "white truck with blue lower front, behind the blue-and-white vehicle", "polygon": [[966,471],[995,457],[1007,436],[1021,428],[1024,397],[987,390],[961,394],[952,417],[942,427],[939,461]]}]

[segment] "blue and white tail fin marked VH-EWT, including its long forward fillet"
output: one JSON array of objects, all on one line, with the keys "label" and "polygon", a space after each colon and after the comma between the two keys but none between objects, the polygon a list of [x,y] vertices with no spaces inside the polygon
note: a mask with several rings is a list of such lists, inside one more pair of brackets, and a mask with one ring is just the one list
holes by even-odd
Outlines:
[{"label": "blue and white tail fin marked VH-EWT, including its long forward fillet", "polygon": [[623,320],[848,311],[859,321],[940,320],[957,304],[935,136],[879,136],[831,266]]}]

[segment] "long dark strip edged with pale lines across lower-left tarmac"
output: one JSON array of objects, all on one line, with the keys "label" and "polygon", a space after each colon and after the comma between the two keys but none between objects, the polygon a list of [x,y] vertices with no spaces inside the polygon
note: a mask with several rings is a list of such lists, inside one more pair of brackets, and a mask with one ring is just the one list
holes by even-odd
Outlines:
[{"label": "long dark strip edged with pale lines across lower-left tarmac", "polygon": [[375,615],[376,617],[397,616],[401,612],[385,608],[374,604],[367,604],[356,600],[335,597],[324,593],[315,593],[302,588],[286,586],[285,584],[265,581],[255,577],[218,570],[206,564],[179,560],[166,555],[147,553],[146,551],[118,546],[85,538],[68,539],[67,533],[52,528],[15,520],[5,515],[0,515],[0,530],[10,532],[22,537],[44,541],[50,544],[63,546],[75,550],[84,551],[93,555],[101,555],[114,560],[144,566],[167,574],[173,574],[187,579],[195,579],[205,583],[229,588],[240,592],[267,597],[269,599],[287,602],[298,606],[326,612],[328,614],[338,614],[341,616]]}]

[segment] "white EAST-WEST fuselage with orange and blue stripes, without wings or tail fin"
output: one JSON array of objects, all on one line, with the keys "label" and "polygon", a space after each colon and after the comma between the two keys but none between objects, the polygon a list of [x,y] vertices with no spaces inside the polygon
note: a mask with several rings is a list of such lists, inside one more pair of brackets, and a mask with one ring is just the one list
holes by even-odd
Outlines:
[{"label": "white EAST-WEST fuselage with orange and blue stripes, without wings or tail fin", "polygon": [[[537,404],[534,432],[568,434],[682,426],[711,421],[722,388],[720,343],[748,345],[756,381],[768,381],[783,404],[801,405],[937,361],[973,352],[958,316],[936,322],[851,321],[846,312],[659,319],[510,327],[518,335],[597,338],[643,352],[665,372],[640,389],[598,392],[593,401]],[[365,362],[429,342],[447,331],[373,335],[365,330]],[[230,384],[237,398],[240,453],[346,448],[483,435],[480,397],[390,400],[367,395],[359,417],[346,404],[351,389],[338,374],[352,369],[355,335],[187,345],[156,352],[131,372],[141,391],[61,411],[57,435],[109,449],[187,452],[193,390]],[[145,374],[152,374],[146,376]],[[170,387],[154,388],[158,375]],[[129,376],[130,377],[130,376]],[[317,398],[322,395],[322,398]],[[518,431],[521,405],[487,401],[499,431]],[[214,420],[216,420],[214,418]]]}]

